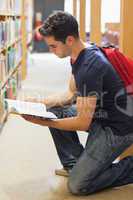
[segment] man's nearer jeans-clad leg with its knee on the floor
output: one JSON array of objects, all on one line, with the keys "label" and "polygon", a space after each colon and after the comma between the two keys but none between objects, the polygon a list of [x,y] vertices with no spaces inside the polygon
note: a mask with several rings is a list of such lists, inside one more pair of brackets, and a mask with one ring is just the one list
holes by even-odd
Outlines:
[{"label": "man's nearer jeans-clad leg with its knee on the floor", "polygon": [[112,164],[132,143],[133,134],[116,136],[109,127],[102,128],[94,123],[85,150],[70,173],[70,191],[76,195],[87,195],[133,183],[133,157]]}]

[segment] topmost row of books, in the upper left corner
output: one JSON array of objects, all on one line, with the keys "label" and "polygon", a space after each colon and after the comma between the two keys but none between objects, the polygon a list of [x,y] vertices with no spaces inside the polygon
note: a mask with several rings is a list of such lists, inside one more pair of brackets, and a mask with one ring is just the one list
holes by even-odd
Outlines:
[{"label": "topmost row of books, in the upper left corner", "polygon": [[0,0],[0,12],[10,14],[21,14],[22,0]]}]

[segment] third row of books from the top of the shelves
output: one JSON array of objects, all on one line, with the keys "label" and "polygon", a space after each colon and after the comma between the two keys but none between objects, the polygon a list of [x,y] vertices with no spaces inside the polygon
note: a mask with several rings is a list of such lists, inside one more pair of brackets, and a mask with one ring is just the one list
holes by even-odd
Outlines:
[{"label": "third row of books from the top of the shelves", "polygon": [[21,57],[21,43],[17,43],[14,47],[8,48],[5,54],[0,54],[0,87],[5,82],[8,74],[20,63]]}]

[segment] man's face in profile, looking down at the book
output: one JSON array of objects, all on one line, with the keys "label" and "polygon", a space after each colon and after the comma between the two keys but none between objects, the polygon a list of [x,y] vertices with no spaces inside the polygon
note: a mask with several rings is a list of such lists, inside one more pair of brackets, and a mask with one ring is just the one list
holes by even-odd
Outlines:
[{"label": "man's face in profile, looking down at the book", "polygon": [[71,55],[71,47],[67,43],[57,41],[53,36],[44,37],[44,41],[49,47],[49,51],[54,53],[59,58],[65,58]]}]

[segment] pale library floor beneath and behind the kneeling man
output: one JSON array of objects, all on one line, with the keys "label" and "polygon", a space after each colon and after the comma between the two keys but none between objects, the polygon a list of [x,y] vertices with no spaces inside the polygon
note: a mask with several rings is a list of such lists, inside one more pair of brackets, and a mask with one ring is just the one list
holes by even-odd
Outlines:
[{"label": "pale library floor beneath and behind the kneeling man", "polygon": [[[66,89],[68,59],[50,54],[30,57],[20,96],[43,98]],[[86,134],[80,133],[80,139],[84,143]],[[0,135],[0,200],[132,200],[133,185],[87,197],[72,196],[66,188],[67,178],[54,175],[57,167],[61,166],[48,128],[11,115]]]}]

